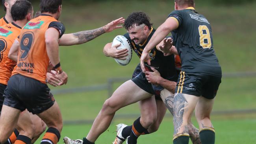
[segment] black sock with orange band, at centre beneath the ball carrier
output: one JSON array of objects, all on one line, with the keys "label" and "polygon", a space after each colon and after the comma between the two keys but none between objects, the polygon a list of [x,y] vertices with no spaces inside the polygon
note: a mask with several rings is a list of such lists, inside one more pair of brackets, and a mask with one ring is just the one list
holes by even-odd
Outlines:
[{"label": "black sock with orange band, at centre beneath the ball carrier", "polygon": [[137,138],[143,133],[145,129],[141,122],[139,121],[141,117],[139,117],[137,120],[134,121],[134,124],[132,125],[132,132],[130,133],[129,137],[129,144],[137,144]]}]

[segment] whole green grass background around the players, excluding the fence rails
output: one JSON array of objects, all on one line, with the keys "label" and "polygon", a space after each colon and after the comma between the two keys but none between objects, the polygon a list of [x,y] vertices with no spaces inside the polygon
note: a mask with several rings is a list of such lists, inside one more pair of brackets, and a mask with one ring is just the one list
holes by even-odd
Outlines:
[{"label": "whole green grass background around the players, excluding the fence rails", "polygon": [[[63,4],[60,18],[66,26],[66,33],[98,28],[119,17],[126,18],[133,11],[145,11],[157,28],[173,10],[173,1],[102,1],[100,3]],[[197,4],[196,9],[209,20],[213,30],[214,49],[223,72],[256,71],[255,13],[256,3],[241,6],[215,6],[205,2]],[[38,9],[38,4],[34,4]],[[2,11],[0,16],[4,14]],[[127,66],[120,66],[112,58],[105,57],[102,49],[116,35],[126,31],[121,28],[106,33],[86,44],[61,47],[61,66],[69,76],[67,85],[51,89],[66,89],[106,83],[108,78],[131,76],[139,62],[135,55]],[[119,85],[117,83],[115,86]],[[256,78],[224,78],[218,91],[213,111],[234,109],[256,109]],[[107,91],[56,95],[61,107],[63,120],[92,120],[100,111],[102,103],[108,98]],[[130,105],[117,114],[139,114],[138,105]],[[169,114],[169,113],[168,113]],[[213,115],[217,131],[216,144],[253,144],[256,142],[256,114]],[[114,137],[115,124],[132,124],[135,119],[115,119],[100,138],[98,144],[110,144]],[[172,117],[167,116],[158,132],[139,138],[140,144],[172,143]],[[194,123],[195,120],[193,120]],[[82,138],[87,135],[91,124],[65,125],[62,138]],[[60,142],[62,142],[60,140]],[[59,143],[60,143],[59,142]],[[36,142],[39,144],[39,141]]]}]

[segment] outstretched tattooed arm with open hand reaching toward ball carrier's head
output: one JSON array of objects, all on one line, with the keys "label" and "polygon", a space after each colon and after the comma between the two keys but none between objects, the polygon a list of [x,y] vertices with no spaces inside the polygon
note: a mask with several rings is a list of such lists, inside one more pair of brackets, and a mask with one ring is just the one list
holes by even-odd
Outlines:
[{"label": "outstretched tattooed arm with open hand reaching toward ball carrier's head", "polygon": [[122,26],[118,26],[122,23],[124,23],[124,18],[121,17],[119,19],[113,20],[112,22],[108,23],[106,26],[103,26],[101,28],[64,34],[59,40],[59,45],[72,46],[75,44],[83,44],[85,42],[91,41],[92,39],[95,39],[103,33],[113,31],[117,28],[122,28]]}]

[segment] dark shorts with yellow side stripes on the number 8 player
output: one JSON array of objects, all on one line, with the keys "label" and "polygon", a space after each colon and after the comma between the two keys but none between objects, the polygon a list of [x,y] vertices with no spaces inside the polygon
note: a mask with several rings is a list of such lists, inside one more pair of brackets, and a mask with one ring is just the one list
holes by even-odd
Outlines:
[{"label": "dark shorts with yellow side stripes on the number 8 player", "polygon": [[202,73],[180,72],[175,93],[191,94],[213,99],[219,85],[221,77],[211,76]]}]

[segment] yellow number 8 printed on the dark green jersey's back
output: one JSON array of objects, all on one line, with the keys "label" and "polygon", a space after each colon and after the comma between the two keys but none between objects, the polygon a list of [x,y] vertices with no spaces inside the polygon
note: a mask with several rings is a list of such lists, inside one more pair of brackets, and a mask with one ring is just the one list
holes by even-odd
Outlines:
[{"label": "yellow number 8 printed on the dark green jersey's back", "polygon": [[200,25],[198,31],[200,35],[200,46],[202,46],[202,48],[211,48],[211,35],[207,26]]}]

